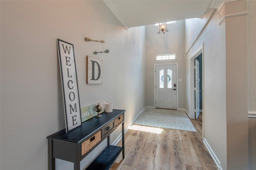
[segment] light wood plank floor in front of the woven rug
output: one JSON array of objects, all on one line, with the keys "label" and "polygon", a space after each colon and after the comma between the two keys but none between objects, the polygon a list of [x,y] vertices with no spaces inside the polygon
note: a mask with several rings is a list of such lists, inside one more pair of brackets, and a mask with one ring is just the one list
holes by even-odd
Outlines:
[{"label": "light wood plank floor in front of the woven rug", "polygon": [[190,120],[197,132],[162,128],[157,134],[129,129],[125,158],[120,154],[111,170],[218,170],[202,141],[202,116]]}]

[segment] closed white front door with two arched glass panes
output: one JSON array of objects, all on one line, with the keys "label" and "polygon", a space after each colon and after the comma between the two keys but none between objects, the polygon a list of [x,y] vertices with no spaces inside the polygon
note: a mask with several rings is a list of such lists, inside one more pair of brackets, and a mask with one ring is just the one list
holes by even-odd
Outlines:
[{"label": "closed white front door with two arched glass panes", "polygon": [[156,65],[156,108],[177,109],[176,65]]}]

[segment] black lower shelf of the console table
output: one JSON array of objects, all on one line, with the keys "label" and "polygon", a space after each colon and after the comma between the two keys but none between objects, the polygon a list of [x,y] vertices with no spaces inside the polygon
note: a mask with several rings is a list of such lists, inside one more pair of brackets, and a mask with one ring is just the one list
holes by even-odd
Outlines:
[{"label": "black lower shelf of the console table", "polygon": [[120,152],[122,152],[122,147],[113,145],[107,146],[86,170],[109,170],[118,158]]}]

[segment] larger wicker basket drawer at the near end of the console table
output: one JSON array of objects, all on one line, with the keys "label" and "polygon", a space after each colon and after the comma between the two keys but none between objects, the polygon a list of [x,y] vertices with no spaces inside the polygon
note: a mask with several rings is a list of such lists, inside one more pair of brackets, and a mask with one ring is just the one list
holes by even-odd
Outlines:
[{"label": "larger wicker basket drawer at the near end of the console table", "polygon": [[82,143],[82,156],[86,154],[92,147],[94,147],[101,140],[101,131],[87,139]]}]

